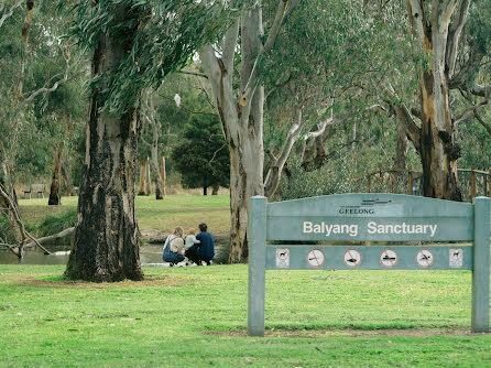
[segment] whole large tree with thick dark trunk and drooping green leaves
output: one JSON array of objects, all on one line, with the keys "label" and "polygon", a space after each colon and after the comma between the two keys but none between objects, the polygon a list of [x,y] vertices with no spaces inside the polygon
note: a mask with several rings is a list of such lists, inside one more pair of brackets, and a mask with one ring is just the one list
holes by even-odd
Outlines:
[{"label": "whole large tree with thick dark trunk and drooping green leaves", "polygon": [[142,280],[134,215],[139,98],[184,66],[219,31],[227,8],[214,1],[86,0],[74,33],[92,50],[90,116],[75,243],[66,274]]}]

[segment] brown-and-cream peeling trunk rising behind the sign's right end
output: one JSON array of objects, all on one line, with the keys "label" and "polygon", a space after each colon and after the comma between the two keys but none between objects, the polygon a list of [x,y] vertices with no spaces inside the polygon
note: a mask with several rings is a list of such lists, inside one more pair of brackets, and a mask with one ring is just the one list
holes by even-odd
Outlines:
[{"label": "brown-and-cream peeling trunk rising behind the sign's right end", "polygon": [[[427,197],[462,201],[457,177],[460,148],[451,121],[448,80],[454,71],[461,28],[469,1],[433,0],[430,10],[408,0],[410,23],[419,37],[426,65],[418,67],[422,127],[413,134],[423,165],[423,194]],[[452,14],[458,8],[455,22]],[[418,137],[417,137],[418,136]]]}]

